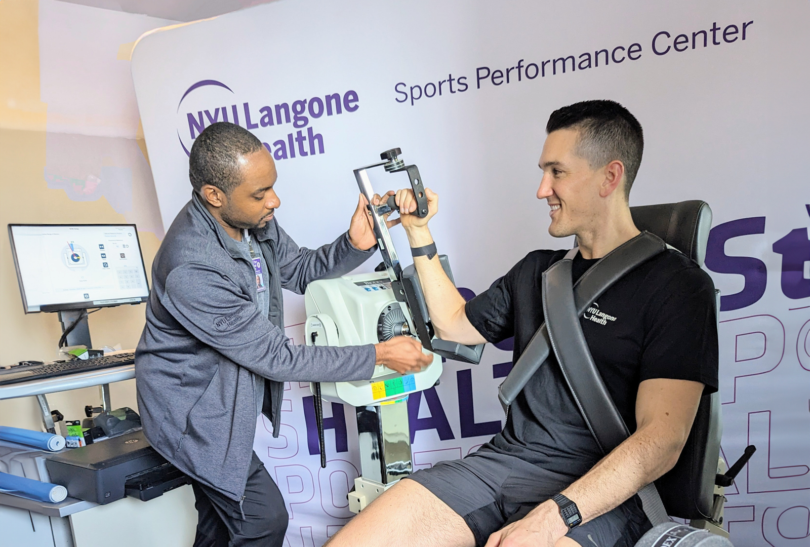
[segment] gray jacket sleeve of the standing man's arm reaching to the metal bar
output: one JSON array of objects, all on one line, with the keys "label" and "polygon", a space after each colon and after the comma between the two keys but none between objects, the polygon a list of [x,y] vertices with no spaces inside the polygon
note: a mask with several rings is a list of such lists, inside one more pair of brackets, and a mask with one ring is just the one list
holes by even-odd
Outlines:
[{"label": "gray jacket sleeve of the standing man's arm reaching to the metal bar", "polygon": [[377,246],[369,250],[356,249],[349,241],[348,232],[318,249],[307,249],[297,246],[278,224],[276,229],[281,286],[293,293],[304,294],[306,286],[314,280],[346,275],[377,250]]}]

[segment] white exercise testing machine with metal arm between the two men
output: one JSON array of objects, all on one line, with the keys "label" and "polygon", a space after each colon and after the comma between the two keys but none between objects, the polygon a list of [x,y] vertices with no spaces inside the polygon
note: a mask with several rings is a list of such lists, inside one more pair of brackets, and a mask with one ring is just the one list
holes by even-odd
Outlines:
[{"label": "white exercise testing machine with metal arm between the two men", "polygon": [[[370,204],[374,190],[367,172],[383,167],[389,173],[407,173],[416,196],[417,210],[413,214],[428,214],[419,169],[405,165],[398,157],[401,153],[399,148],[388,150],[380,155],[382,161],[354,170],[360,191],[369,200],[374,235],[382,254],[377,271],[313,281],[305,292],[307,345],[377,344],[394,336],[415,336],[424,351],[433,353],[433,362],[415,374],[403,375],[378,365],[370,380],[311,384],[322,467],[326,467],[322,399],[356,407],[361,476],[348,494],[349,509],[355,513],[412,471],[408,395],[437,384],[442,357],[477,364],[484,349],[484,344],[467,346],[434,335],[416,269],[412,264],[403,269],[388,232],[386,214],[397,210],[394,197],[382,205]],[[446,255],[440,254],[439,259],[452,281]]]}]

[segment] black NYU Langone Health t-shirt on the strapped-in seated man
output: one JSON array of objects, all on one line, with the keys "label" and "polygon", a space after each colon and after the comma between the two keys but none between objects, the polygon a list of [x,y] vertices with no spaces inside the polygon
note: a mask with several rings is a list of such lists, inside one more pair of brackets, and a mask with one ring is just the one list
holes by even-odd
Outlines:
[{"label": "black NYU Langone Health t-shirt on the strapped-in seated man", "polygon": [[[467,302],[467,318],[489,342],[514,336],[518,361],[544,322],[542,274],[565,250],[535,250]],[[573,281],[597,260],[573,260]],[[649,378],[693,380],[717,391],[714,284],[684,254],[665,250],[630,271],[590,306],[582,331],[628,429],[636,429],[638,385]],[[484,445],[549,472],[582,476],[603,457],[549,357],[509,409],[505,428]]]}]

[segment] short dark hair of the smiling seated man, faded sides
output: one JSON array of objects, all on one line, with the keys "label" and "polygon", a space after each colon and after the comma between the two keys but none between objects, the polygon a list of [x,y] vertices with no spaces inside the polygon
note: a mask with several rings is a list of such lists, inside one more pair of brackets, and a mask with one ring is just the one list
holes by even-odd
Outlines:
[{"label": "short dark hair of the smiling seated man, faded sides", "polygon": [[576,153],[595,169],[620,160],[625,165],[625,198],[636,180],[644,152],[644,131],[633,114],[615,100],[583,100],[552,112],[546,133],[579,131]]}]

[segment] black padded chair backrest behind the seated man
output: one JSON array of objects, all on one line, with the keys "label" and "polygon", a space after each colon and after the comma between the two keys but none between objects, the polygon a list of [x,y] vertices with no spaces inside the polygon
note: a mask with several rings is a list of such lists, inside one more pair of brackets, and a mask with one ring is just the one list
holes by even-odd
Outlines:
[{"label": "black padded chair backrest behind the seated man", "polygon": [[[692,200],[644,205],[630,207],[630,212],[638,229],[654,233],[703,265],[712,221],[708,203]],[[716,300],[715,317],[720,309],[719,295]],[[669,515],[681,519],[710,517],[722,433],[719,394],[703,395],[678,463],[655,481]]]}]

